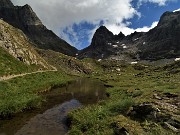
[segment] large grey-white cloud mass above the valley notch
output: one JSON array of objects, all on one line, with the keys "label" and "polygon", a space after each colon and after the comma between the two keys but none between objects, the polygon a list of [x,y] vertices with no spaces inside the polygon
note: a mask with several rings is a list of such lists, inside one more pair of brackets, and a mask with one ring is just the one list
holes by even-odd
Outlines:
[{"label": "large grey-white cloud mass above the valley notch", "polygon": [[[122,25],[124,20],[135,15],[140,16],[140,13],[132,7],[132,0],[12,0],[12,2],[15,5],[29,4],[44,25],[72,43],[62,31],[68,28],[75,38],[73,44],[78,43],[74,31],[70,29],[75,23],[86,21],[98,26],[103,21],[108,25]],[[94,33],[90,31],[88,34],[92,37]]]}]

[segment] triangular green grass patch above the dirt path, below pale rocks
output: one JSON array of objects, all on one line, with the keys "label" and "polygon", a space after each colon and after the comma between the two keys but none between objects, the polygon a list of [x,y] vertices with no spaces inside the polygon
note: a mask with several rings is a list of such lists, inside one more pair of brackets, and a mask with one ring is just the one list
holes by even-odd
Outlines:
[{"label": "triangular green grass patch above the dirt path, below pale rocks", "polygon": [[20,74],[37,70],[37,67],[28,66],[21,61],[16,60],[0,47],[0,76]]}]

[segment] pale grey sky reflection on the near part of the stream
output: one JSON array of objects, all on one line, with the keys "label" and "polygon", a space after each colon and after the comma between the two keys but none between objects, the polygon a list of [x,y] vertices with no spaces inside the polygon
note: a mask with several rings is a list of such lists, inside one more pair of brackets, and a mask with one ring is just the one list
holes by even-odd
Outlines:
[{"label": "pale grey sky reflection on the near part of the stream", "polygon": [[64,119],[67,113],[81,103],[77,100],[65,102],[59,106],[33,117],[15,135],[62,135],[67,132]]}]

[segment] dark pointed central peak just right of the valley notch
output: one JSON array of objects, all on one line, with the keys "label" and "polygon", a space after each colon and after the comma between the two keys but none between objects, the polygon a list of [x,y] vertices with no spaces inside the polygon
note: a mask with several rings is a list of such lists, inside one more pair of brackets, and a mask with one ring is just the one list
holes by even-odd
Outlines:
[{"label": "dark pointed central peak just right of the valley notch", "polygon": [[91,45],[80,51],[78,57],[107,58],[116,52],[115,48],[118,47],[116,42],[124,37],[124,34],[121,32],[118,35],[113,35],[105,26],[100,26],[92,38]]}]

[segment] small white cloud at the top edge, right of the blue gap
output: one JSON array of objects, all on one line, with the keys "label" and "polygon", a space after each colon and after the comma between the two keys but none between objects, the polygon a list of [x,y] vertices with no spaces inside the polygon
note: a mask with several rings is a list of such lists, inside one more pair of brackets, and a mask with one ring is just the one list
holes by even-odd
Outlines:
[{"label": "small white cloud at the top edge, right of the blue gap", "polygon": [[166,2],[172,2],[172,1],[177,1],[177,0],[139,0],[139,5],[141,5],[142,3],[151,2],[158,4],[159,6],[165,6]]}]

